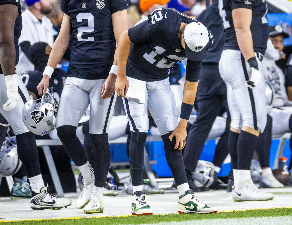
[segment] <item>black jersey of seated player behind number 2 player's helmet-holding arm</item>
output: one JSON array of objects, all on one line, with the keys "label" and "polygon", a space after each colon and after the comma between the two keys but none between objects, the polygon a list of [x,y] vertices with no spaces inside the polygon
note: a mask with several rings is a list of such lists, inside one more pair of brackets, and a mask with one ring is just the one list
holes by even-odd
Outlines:
[{"label": "black jersey of seated player behind number 2 player's helmet-holding arm", "polygon": [[[50,79],[49,87],[53,87],[54,99],[57,104],[59,104],[61,93],[64,87],[66,72],[62,69],[55,69],[52,78]],[[34,93],[38,98],[39,96],[36,87],[43,78],[43,71],[29,71],[28,73],[22,74],[21,79],[24,85],[27,88],[27,91]]]}]

